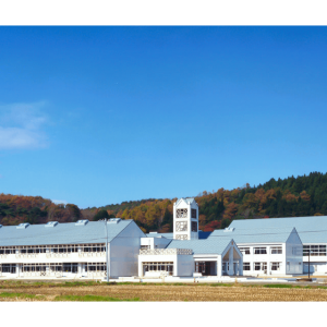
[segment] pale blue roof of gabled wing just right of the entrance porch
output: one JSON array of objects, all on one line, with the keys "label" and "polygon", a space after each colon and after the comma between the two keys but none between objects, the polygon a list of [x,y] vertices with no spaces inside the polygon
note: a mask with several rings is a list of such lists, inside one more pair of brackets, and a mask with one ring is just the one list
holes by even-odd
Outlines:
[{"label": "pale blue roof of gabled wing just right of the entrance porch", "polygon": [[293,227],[286,228],[255,228],[255,229],[231,229],[215,230],[208,238],[211,239],[233,239],[237,244],[240,243],[286,243],[290,234],[296,230]]}]

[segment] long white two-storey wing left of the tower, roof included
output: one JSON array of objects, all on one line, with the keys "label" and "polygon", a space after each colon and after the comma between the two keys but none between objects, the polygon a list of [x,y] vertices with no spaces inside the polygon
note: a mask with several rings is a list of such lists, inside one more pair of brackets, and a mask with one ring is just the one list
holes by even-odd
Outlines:
[{"label": "long white two-storey wing left of the tower, roof included", "polygon": [[133,220],[110,219],[76,223],[22,223],[0,226],[0,277],[106,276],[108,240],[109,276],[136,276],[141,239],[145,234]]}]

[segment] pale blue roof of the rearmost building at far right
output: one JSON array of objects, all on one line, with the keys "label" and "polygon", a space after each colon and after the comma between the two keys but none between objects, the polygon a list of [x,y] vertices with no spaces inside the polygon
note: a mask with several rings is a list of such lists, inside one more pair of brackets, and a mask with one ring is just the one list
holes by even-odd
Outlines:
[{"label": "pale blue roof of the rearmost building at far right", "polygon": [[327,243],[327,216],[234,220],[230,227],[237,230],[294,227],[302,243]]}]

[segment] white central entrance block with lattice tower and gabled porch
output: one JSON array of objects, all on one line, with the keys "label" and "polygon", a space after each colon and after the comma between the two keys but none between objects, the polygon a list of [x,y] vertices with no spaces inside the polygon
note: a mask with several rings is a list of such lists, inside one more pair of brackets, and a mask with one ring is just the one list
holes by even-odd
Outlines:
[{"label": "white central entrance block with lattice tower and gabled porch", "polygon": [[[242,276],[242,253],[232,238],[201,239],[198,206],[194,198],[173,205],[173,233],[149,233],[142,239],[141,277]],[[205,233],[208,235],[207,233]]]}]

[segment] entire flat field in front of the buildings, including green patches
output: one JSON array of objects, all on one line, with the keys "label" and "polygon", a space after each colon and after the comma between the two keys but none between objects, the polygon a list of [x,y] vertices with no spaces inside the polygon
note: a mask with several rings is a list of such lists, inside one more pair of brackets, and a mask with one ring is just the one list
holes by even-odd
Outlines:
[{"label": "entire flat field in front of the buildings, including green patches", "polygon": [[327,302],[327,289],[294,286],[0,282],[0,302]]}]

